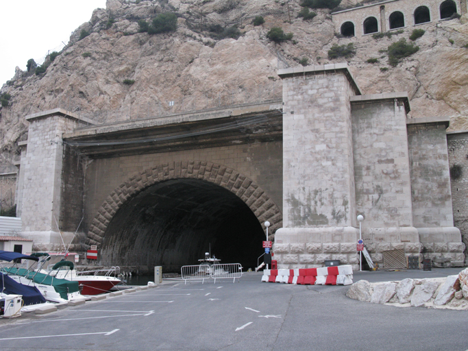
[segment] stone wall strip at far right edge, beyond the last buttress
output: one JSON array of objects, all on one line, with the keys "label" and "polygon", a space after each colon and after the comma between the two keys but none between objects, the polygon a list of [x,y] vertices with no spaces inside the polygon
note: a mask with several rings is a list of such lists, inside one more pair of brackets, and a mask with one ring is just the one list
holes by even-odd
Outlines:
[{"label": "stone wall strip at far right edge, beyond the last buttress", "polygon": [[[452,179],[454,226],[460,229],[468,258],[468,132],[447,134],[449,165],[460,165],[462,176]],[[466,261],[465,261],[466,262]]]}]

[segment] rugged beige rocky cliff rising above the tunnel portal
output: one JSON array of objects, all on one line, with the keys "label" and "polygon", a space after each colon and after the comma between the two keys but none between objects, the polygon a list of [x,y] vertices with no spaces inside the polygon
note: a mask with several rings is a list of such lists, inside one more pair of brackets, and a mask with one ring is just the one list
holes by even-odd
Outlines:
[{"label": "rugged beige rocky cliff rising above the tunnel portal", "polygon": [[[16,69],[1,88],[10,99],[1,108],[0,173],[15,169],[18,141],[27,138],[27,114],[60,107],[112,123],[279,99],[278,68],[301,60],[347,60],[363,93],[408,91],[410,117],[447,116],[451,130],[468,130],[466,15],[420,26],[426,33],[415,41],[419,51],[393,67],[384,50],[408,39],[414,28],[391,38],[338,38],[330,10],[316,10],[317,16],[304,21],[297,17],[301,9],[297,0],[108,0],[106,9],[95,10],[72,34],[45,73]],[[175,32],[138,32],[138,20],[162,12],[177,14]],[[265,22],[253,25],[255,16]],[[269,40],[271,27],[293,33],[292,40]],[[356,55],[328,59],[333,45],[349,43]]]}]

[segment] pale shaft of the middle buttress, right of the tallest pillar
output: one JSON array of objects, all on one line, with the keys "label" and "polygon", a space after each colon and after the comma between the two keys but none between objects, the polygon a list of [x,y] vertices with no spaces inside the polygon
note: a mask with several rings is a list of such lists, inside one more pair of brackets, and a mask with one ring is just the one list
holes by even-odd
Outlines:
[{"label": "pale shaft of the middle buttress, right of the tallest pillar", "polygon": [[[352,104],[352,113],[356,210],[365,217],[363,230],[412,226],[404,106],[367,101]],[[401,241],[390,235],[382,239]]]}]

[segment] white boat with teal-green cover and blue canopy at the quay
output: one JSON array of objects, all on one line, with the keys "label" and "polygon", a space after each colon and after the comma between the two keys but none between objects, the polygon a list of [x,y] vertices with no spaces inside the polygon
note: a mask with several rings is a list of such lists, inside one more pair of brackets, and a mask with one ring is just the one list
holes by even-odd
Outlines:
[{"label": "white boat with teal-green cover and blue canopy at the quay", "polygon": [[[21,263],[21,260],[25,262]],[[49,274],[35,271],[35,265],[40,261],[38,257],[0,250],[0,261],[13,262],[7,267],[2,265],[0,272],[12,278],[12,280],[27,287],[36,287],[50,302],[67,302],[85,300],[79,293],[78,282],[56,278]],[[21,265],[19,265],[21,263]]]}]

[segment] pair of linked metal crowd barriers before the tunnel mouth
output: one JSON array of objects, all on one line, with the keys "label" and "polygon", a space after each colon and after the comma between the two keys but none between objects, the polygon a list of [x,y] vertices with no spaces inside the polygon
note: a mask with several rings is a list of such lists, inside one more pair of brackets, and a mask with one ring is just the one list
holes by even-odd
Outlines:
[{"label": "pair of linked metal crowd barriers before the tunnel mouth", "polygon": [[183,266],[181,269],[182,279],[185,284],[187,280],[201,280],[201,284],[206,279],[214,279],[216,284],[217,279],[232,279],[232,282],[236,282],[236,278],[242,276],[242,266],[240,263],[223,263],[217,265],[192,265]]}]

